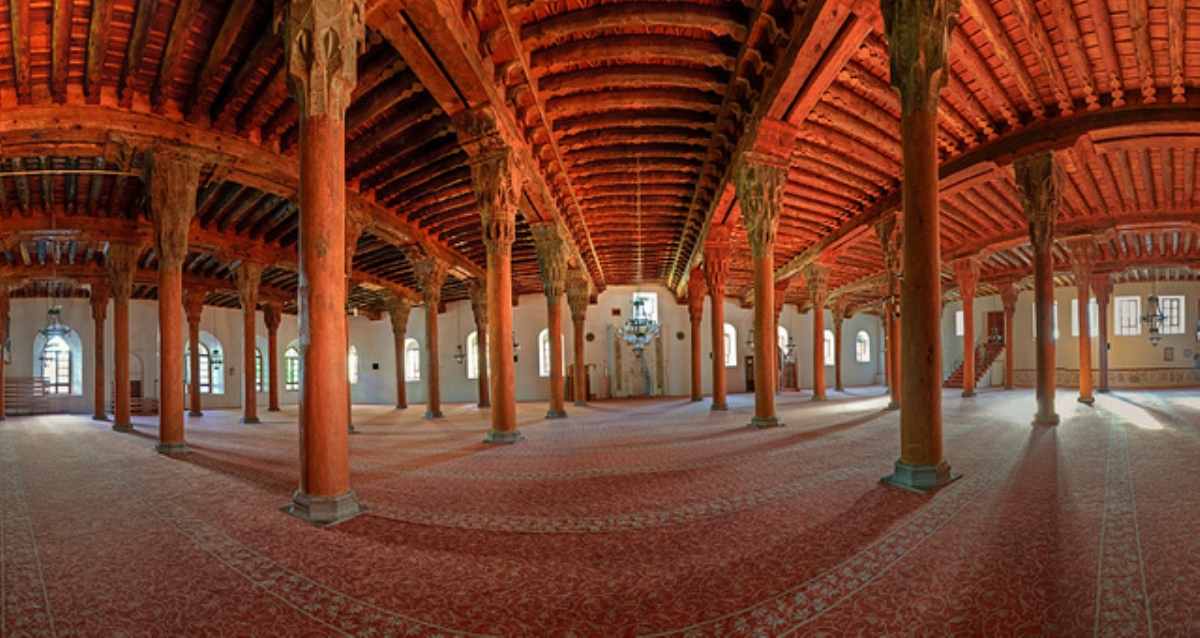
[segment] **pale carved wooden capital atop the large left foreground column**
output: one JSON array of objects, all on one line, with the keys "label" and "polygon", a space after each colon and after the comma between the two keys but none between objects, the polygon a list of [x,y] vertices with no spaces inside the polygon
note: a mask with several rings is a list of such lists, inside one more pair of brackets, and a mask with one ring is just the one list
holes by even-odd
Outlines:
[{"label": "pale carved wooden capital atop the large left foreground column", "polygon": [[364,0],[276,0],[276,24],[300,118],[344,121],[366,36]]}]

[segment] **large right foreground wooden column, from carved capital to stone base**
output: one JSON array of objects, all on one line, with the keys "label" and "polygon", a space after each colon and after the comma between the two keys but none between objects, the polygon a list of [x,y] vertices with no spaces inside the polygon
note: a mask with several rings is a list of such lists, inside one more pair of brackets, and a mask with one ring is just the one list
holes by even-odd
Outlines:
[{"label": "large right foreground wooden column, from carved capital to stone base", "polygon": [[882,0],[892,85],[900,94],[904,282],[900,290],[900,459],[886,478],[914,490],[956,477],[942,453],[942,255],[937,103],[949,74],[954,0]]}]

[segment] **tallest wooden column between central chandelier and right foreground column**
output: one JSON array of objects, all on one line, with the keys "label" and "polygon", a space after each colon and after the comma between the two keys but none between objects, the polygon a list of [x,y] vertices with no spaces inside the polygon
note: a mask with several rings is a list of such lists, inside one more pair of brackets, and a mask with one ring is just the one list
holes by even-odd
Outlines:
[{"label": "tallest wooden column between central chandelier and right foreground column", "polygon": [[796,140],[796,128],[787,122],[764,119],[758,122],[758,139],[752,152],[733,167],[742,222],[750,240],[754,260],[754,417],[750,427],[782,426],[775,414],[779,359],[775,330],[775,234],[784,210],[784,188]]}]

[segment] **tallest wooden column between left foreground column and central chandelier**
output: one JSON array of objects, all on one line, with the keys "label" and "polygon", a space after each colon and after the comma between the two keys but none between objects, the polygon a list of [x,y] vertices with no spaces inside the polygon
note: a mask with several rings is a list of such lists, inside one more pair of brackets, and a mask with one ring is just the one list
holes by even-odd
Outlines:
[{"label": "tallest wooden column between left foreground column and central chandelier", "polygon": [[492,429],[486,443],[521,440],[512,368],[512,242],[522,197],[521,168],[514,145],[484,108],[455,118],[460,142],[470,156],[472,186],[487,247],[487,345],[491,354]]}]

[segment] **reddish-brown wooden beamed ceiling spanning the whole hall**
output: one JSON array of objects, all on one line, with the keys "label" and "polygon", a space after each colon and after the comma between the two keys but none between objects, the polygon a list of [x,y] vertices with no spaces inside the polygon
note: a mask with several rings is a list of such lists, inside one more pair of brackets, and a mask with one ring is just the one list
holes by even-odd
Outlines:
[{"label": "reddish-brown wooden beamed ceiling spanning the whole hall", "polygon": [[[713,224],[746,246],[730,169],[772,118],[798,130],[775,251],[787,301],[805,306],[804,266],[834,257],[834,297],[880,297],[875,224],[899,206],[902,167],[877,2],[368,0],[367,24],[347,113],[367,225],[352,303],[416,299],[414,251],[451,263],[445,301],[482,276],[454,126],[480,107],[527,177],[517,294],[541,291],[530,224],[556,223],[596,290],[685,295]],[[940,116],[943,261],[982,259],[983,294],[1028,276],[1010,167],[1043,150],[1067,171],[1060,236],[1099,236],[1100,270],[1200,270],[1196,0],[964,0]],[[233,270],[263,260],[264,290],[289,299],[298,134],[271,1],[0,0],[0,277],[68,296],[110,242],[149,245],[144,154],[168,140],[212,157],[187,276],[234,307]],[[1069,272],[1064,251],[1056,263]],[[752,302],[749,251],[728,288]],[[152,277],[136,294],[152,297]]]}]

